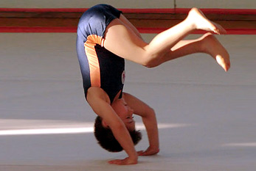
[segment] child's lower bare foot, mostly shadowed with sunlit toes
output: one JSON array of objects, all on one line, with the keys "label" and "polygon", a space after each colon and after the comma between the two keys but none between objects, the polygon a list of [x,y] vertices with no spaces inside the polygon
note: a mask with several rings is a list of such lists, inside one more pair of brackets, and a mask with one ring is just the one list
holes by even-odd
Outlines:
[{"label": "child's lower bare foot, mostly shadowed with sunlit toes", "polygon": [[201,41],[202,49],[210,54],[225,71],[230,68],[229,53],[211,33],[204,34]]}]

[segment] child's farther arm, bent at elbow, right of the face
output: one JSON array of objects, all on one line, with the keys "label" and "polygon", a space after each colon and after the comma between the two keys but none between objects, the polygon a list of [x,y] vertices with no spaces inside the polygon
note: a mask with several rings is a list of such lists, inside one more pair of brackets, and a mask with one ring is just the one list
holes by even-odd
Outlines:
[{"label": "child's farther arm, bent at elbow, right of the face", "polygon": [[126,103],[128,103],[128,106],[130,106],[131,109],[134,109],[134,114],[138,114],[142,117],[142,121],[148,134],[149,147],[145,151],[139,151],[139,156],[148,156],[159,153],[159,134],[155,112],[150,106],[133,95],[123,92],[123,96]]}]

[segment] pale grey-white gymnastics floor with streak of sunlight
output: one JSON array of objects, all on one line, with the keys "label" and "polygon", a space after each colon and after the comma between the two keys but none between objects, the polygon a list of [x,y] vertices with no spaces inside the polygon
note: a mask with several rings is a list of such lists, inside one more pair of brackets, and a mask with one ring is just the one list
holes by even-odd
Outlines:
[{"label": "pale grey-white gymnastics floor with streak of sunlight", "polygon": [[153,69],[126,62],[125,92],[155,109],[161,151],[120,167],[107,161],[125,153],[102,150],[92,133],[76,34],[0,33],[0,170],[255,171],[255,38],[218,36],[231,55],[228,73],[204,54]]}]

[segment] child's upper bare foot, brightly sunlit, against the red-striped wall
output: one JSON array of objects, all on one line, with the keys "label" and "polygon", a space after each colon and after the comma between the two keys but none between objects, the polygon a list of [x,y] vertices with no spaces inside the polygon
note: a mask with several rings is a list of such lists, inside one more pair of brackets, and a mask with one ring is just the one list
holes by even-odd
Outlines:
[{"label": "child's upper bare foot, brightly sunlit, against the red-striped wall", "polygon": [[187,20],[192,23],[195,29],[202,29],[207,32],[215,32],[216,34],[226,34],[226,30],[219,25],[206,18],[206,16],[197,8],[190,10]]}]

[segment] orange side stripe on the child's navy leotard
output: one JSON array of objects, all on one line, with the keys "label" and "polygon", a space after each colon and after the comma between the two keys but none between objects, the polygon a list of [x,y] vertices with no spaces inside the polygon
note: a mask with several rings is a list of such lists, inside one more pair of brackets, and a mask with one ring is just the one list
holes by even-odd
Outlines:
[{"label": "orange side stripe on the child's navy leotard", "polygon": [[103,37],[91,34],[89,35],[89,37],[87,37],[86,43],[84,43],[86,56],[89,62],[91,87],[100,87],[100,64],[97,58],[97,53],[94,48],[96,44],[103,46]]}]

